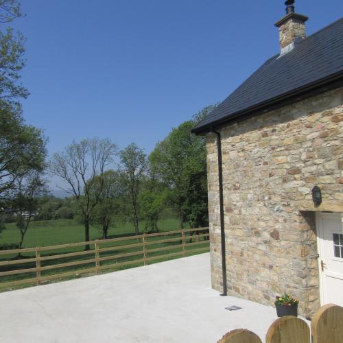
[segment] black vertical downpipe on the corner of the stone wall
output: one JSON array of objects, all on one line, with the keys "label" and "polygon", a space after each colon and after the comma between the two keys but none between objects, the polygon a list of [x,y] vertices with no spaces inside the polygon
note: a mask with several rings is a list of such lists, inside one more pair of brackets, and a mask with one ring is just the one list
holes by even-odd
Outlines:
[{"label": "black vertical downpipe on the corner of the stone wall", "polygon": [[225,258],[225,226],[224,226],[224,196],[223,196],[223,164],[222,164],[222,138],[220,132],[211,132],[217,134],[217,155],[218,155],[218,179],[219,179],[219,203],[220,203],[220,240],[222,243],[222,278],[223,278],[223,294],[228,295],[228,287],[226,285],[226,258]]}]

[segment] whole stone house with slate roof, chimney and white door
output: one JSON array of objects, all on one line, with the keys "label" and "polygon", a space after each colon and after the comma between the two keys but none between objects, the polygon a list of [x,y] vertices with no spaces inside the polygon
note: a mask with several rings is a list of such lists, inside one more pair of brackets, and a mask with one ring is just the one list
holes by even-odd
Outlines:
[{"label": "whole stone house with slate roof, chimney and white door", "polygon": [[281,51],[193,129],[207,137],[213,288],[287,291],[310,318],[343,305],[343,19],[306,38],[286,1]]}]

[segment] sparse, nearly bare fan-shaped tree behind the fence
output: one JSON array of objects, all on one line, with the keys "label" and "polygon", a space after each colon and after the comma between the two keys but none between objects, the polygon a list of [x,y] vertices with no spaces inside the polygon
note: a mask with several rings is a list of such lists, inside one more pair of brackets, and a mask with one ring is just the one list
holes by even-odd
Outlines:
[{"label": "sparse, nearly bare fan-shaped tree behind the fence", "polygon": [[75,197],[82,214],[85,241],[89,241],[89,224],[104,189],[104,171],[113,163],[116,150],[109,139],[83,139],[52,158],[51,171],[67,184],[59,188]]}]

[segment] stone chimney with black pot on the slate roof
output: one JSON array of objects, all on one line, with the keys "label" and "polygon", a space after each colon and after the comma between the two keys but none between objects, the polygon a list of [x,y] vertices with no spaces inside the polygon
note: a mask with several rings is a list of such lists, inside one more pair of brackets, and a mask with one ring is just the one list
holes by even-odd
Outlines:
[{"label": "stone chimney with black pot on the slate roof", "polygon": [[286,15],[275,23],[279,27],[280,55],[294,49],[294,43],[306,37],[305,21],[309,18],[294,12],[294,2],[295,0],[285,2]]}]

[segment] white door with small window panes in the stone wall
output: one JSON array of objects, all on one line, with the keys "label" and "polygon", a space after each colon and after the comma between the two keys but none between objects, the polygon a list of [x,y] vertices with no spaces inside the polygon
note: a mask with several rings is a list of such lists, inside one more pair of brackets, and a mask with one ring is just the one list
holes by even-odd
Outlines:
[{"label": "white door with small window panes in the stone wall", "polygon": [[320,303],[343,306],[343,226],[341,213],[318,213]]}]

